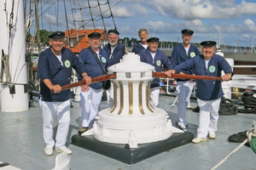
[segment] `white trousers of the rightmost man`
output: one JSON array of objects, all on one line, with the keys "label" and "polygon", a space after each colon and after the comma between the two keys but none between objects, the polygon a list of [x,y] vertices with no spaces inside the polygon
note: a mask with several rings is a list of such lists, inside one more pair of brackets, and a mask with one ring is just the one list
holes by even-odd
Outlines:
[{"label": "white trousers of the rightmost man", "polygon": [[197,137],[207,138],[208,133],[217,131],[220,101],[221,98],[212,100],[197,99],[197,104],[200,107]]}]

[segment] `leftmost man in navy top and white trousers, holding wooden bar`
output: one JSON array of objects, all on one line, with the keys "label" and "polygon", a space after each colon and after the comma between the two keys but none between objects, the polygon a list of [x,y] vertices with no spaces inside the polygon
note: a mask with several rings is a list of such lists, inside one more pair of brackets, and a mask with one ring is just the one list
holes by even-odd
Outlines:
[{"label": "leftmost man in navy top and white trousers, holding wooden bar", "polygon": [[[84,66],[69,48],[64,48],[65,33],[55,31],[49,35],[49,45],[38,59],[38,77],[40,78],[40,107],[44,120],[45,155],[57,152],[72,154],[65,145],[70,123],[70,90],[61,91],[61,86],[70,83],[73,69],[84,81],[90,84]],[[58,125],[56,138],[53,139],[53,127]]]}]

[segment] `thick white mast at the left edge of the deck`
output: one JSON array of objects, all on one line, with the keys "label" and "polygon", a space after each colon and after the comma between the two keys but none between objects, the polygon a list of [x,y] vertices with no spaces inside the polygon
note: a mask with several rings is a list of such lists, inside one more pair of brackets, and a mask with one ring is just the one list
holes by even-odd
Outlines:
[{"label": "thick white mast at the left edge of the deck", "polygon": [[1,111],[26,111],[29,105],[26,92],[26,36],[23,1],[2,1],[0,8],[2,16],[0,17],[2,23],[0,26],[2,31],[0,34]]}]

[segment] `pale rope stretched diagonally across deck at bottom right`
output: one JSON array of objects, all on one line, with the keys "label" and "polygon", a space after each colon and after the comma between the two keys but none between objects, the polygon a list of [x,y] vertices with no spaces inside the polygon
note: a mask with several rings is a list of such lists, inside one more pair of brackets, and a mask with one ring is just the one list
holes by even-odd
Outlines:
[{"label": "pale rope stretched diagonally across deck at bottom right", "polygon": [[215,170],[225,161],[227,161],[228,158],[232,156],[237,150],[240,150],[241,147],[247,143],[247,141],[250,142],[253,152],[256,153],[256,122],[253,122],[253,127],[247,131],[247,139],[245,139],[241,144],[239,144],[235,150],[232,150],[228,156],[225,156],[223,160],[219,161],[216,166],[212,167],[211,170]]}]

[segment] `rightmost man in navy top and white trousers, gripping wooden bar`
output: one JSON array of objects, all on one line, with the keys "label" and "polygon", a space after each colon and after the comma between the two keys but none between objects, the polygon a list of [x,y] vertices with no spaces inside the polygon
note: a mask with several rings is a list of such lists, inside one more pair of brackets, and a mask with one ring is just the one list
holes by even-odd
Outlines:
[{"label": "rightmost man in navy top and white trousers, gripping wooden bar", "polygon": [[[222,81],[229,81],[233,76],[229,63],[222,56],[214,54],[216,42],[201,42],[201,55],[196,55],[192,59],[188,59],[181,65],[177,65],[174,70],[166,72],[168,77],[172,77],[174,73],[183,72],[183,70],[195,71],[195,75],[207,77],[221,77],[224,71]],[[196,80],[196,98],[200,107],[199,125],[197,128],[197,136],[192,140],[197,144],[209,139],[216,138],[218,125],[218,110],[222,96],[224,95],[219,80]]]}]

